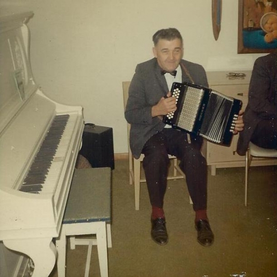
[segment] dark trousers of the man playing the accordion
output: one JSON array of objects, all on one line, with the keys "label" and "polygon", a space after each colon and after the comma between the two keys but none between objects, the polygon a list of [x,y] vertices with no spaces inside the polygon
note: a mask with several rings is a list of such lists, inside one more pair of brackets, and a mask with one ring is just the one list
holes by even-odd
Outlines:
[{"label": "dark trousers of the man playing the accordion", "polygon": [[143,147],[143,169],[152,206],[163,207],[169,169],[168,154],[180,160],[195,211],[207,209],[207,162],[200,152],[200,137],[188,140],[188,134],[164,128]]}]

